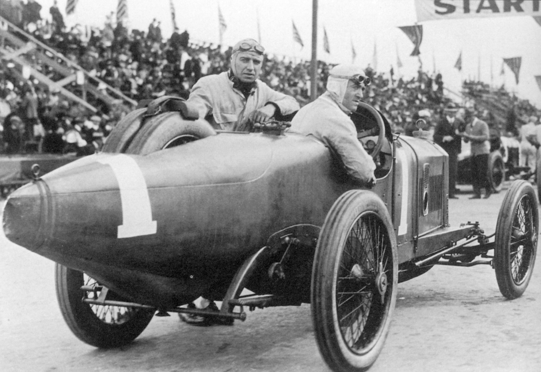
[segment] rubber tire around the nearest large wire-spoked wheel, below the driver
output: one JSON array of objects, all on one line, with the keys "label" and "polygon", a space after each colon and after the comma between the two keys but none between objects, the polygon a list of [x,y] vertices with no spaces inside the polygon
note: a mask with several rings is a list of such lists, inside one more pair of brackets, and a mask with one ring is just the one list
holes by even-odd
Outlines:
[{"label": "rubber tire around the nearest large wire-spoked wheel, below the driver", "polygon": [[[374,222],[373,226],[377,225],[381,228],[381,241],[384,241],[385,246],[389,248],[385,253],[386,269],[389,275],[387,276],[388,287],[384,295],[384,305],[380,304],[379,291],[375,286],[372,288],[375,301],[371,303],[371,307],[376,309],[368,313],[366,320],[367,324],[372,326],[373,334],[369,336],[370,340],[367,346],[352,350],[346,344],[339,325],[338,313],[342,309],[338,309],[336,293],[340,273],[344,274],[339,271],[339,267],[347,238],[360,218],[362,221],[370,219]],[[362,262],[359,260],[358,263]],[[354,266],[352,265],[352,270]],[[352,274],[352,270],[346,271],[348,275]],[[360,270],[362,273],[362,268]],[[365,268],[366,273],[370,274],[369,271],[368,268]],[[358,277],[356,281],[360,281],[360,278]],[[359,288],[358,283],[353,283],[353,285],[355,285],[353,291]],[[335,201],[325,218],[316,247],[312,273],[311,304],[314,333],[319,351],[332,370],[364,371],[375,362],[387,337],[396,303],[397,287],[397,241],[385,204],[372,191],[351,190],[345,192]],[[377,316],[374,317],[374,315]],[[352,323],[349,326],[351,327]],[[361,335],[367,336],[368,331],[363,329]]]}]

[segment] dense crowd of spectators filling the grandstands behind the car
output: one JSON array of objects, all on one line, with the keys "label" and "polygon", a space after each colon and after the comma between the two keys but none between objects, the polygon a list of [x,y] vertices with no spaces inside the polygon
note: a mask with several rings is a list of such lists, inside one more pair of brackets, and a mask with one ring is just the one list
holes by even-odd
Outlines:
[{"label": "dense crowd of spectators filling the grandstands behind the car", "polygon": [[[129,32],[122,23],[115,24],[113,14],[108,16],[102,29],[82,25],[68,29],[56,2],[49,9],[52,21],[41,18],[41,5],[35,1],[0,2],[3,17],[135,101],[162,95],[187,97],[201,76],[228,68],[230,49],[223,51],[220,45],[191,41],[187,31],[176,30],[169,38],[164,38],[156,19],[147,31],[134,29]],[[301,107],[309,102],[309,61],[297,62],[287,56],[268,54],[264,64],[260,78],[269,87],[294,96]],[[318,76],[321,77],[318,95],[324,91],[326,76],[332,67],[332,64],[318,61]],[[44,75],[53,79],[54,70],[46,65],[40,68]],[[404,79],[395,76],[392,68],[381,72],[369,66],[365,72],[373,82],[365,99],[388,118],[394,132],[411,130],[419,112],[428,112],[425,118],[435,124],[450,101],[444,95],[443,78],[439,73],[419,69],[418,76]],[[59,95],[58,91],[40,89],[32,81],[21,82],[9,68],[2,73],[0,118],[8,116],[4,119],[3,141],[19,137],[20,140],[4,149],[0,142],[0,152],[36,149],[66,152],[77,148],[79,152],[87,153],[99,150],[111,128],[126,112],[120,106],[111,108],[104,104],[97,105],[97,113],[88,112]],[[536,111],[529,102],[518,100],[505,89],[494,93],[498,98],[505,98],[498,101],[499,106],[495,109],[491,104],[495,100],[486,99],[485,90],[491,88],[482,83],[466,82],[464,93],[470,98],[469,104],[477,105],[485,112],[493,127],[502,127],[514,134],[518,132],[521,118]],[[34,99],[25,98],[25,95],[35,97],[37,101],[38,123],[29,124],[27,101]],[[506,115],[503,118],[502,111]],[[22,135],[14,136],[15,132],[22,132]],[[30,148],[27,148],[28,143]]]}]

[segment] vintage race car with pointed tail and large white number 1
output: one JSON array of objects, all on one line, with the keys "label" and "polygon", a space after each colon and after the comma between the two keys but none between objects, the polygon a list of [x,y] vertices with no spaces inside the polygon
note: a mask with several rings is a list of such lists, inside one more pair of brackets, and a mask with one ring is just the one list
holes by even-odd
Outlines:
[{"label": "vintage race car with pointed tail and large white number 1", "polygon": [[[538,210],[532,186],[516,181],[495,234],[450,226],[446,152],[391,135],[361,107],[373,188],[356,187],[333,151],[284,123],[215,131],[166,97],[126,116],[100,154],[43,177],[36,167],[5,203],[5,235],[57,262],[65,321],[96,347],[133,341],[155,314],[244,320],[245,308],[311,303],[328,366],[366,370],[398,283],[433,265],[491,264],[502,294],[522,295]],[[201,295],[220,310],[185,306]]]}]

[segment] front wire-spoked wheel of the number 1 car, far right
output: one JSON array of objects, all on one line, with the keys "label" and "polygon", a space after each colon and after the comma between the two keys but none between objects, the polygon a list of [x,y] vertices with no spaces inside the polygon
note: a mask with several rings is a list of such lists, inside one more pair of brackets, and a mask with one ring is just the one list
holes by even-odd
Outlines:
[{"label": "front wire-spoked wheel of the number 1 car, far right", "polygon": [[[500,207],[494,241],[496,280],[502,295],[510,300],[522,296],[530,282],[537,254],[538,214],[532,185],[527,181],[514,181]],[[521,231],[524,236],[519,242],[513,243],[517,232]],[[518,250],[522,250],[520,257],[515,254]],[[520,261],[514,262],[512,256]]]}]

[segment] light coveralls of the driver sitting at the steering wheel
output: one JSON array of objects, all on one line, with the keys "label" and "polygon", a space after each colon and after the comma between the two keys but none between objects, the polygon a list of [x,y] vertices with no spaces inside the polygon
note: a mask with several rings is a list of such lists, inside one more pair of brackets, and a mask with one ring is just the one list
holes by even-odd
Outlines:
[{"label": "light coveralls of the driver sitting at the steering wheel", "polygon": [[374,161],[357,139],[355,124],[328,91],[295,114],[289,131],[314,136],[336,151],[355,181],[374,178]]}]

